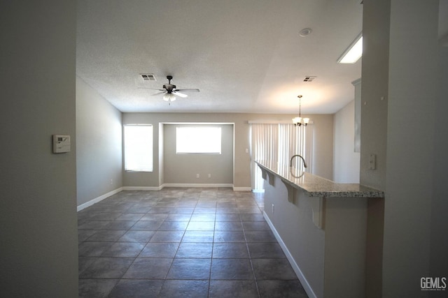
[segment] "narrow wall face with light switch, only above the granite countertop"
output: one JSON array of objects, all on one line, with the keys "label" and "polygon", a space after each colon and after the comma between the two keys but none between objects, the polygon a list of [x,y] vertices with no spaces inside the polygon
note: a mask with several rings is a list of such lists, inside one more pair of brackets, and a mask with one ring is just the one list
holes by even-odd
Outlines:
[{"label": "narrow wall face with light switch, only above the granite countertop", "polygon": [[[381,97],[388,96],[389,6],[390,0],[363,5],[360,183],[381,190],[386,187],[388,101]],[[369,170],[370,154],[376,155],[376,170]]]}]

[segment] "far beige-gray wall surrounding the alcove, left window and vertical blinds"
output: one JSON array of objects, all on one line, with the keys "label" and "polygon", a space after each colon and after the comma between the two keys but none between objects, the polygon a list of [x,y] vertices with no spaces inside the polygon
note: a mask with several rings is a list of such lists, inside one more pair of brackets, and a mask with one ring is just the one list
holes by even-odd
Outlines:
[{"label": "far beige-gray wall surrounding the alcove, left window and vertical blinds", "polygon": [[[333,115],[309,115],[314,121],[314,161],[313,171],[321,177],[332,179],[332,140]],[[160,171],[167,169],[164,162],[158,160],[163,154],[159,150],[159,123],[176,122],[210,122],[235,124],[235,188],[251,187],[251,158],[246,149],[249,148],[248,120],[291,121],[294,114],[231,114],[231,113],[124,113],[123,124],[153,124],[154,126],[154,172],[123,173],[123,186],[158,187],[163,178]],[[163,139],[162,139],[163,140]],[[165,163],[166,163],[166,159]],[[165,177],[167,174],[165,173]],[[165,181],[166,183],[166,181]]]}]

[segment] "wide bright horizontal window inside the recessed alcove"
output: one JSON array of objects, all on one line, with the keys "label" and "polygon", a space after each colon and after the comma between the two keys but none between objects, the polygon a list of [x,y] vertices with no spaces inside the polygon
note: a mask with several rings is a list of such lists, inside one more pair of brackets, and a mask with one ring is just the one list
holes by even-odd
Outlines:
[{"label": "wide bright horizontal window inside the recessed alcove", "polygon": [[176,127],[176,154],[221,154],[221,127]]}]

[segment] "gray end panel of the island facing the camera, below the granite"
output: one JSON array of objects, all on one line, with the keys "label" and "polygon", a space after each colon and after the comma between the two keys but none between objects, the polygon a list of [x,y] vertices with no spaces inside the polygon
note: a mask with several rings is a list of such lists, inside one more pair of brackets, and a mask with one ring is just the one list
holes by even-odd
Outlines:
[{"label": "gray end panel of the island facing the camera, below the granite", "polygon": [[323,297],[365,297],[367,198],[325,199]]}]

